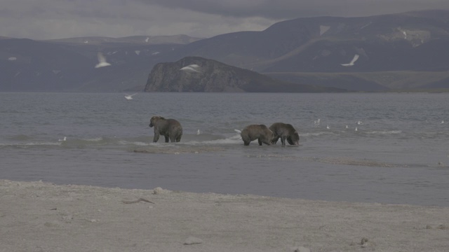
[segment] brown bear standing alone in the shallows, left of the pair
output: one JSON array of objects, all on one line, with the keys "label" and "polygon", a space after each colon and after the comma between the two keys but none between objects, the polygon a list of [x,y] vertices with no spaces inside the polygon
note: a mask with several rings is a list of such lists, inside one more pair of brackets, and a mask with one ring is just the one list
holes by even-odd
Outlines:
[{"label": "brown bear standing alone in the shallows, left of the pair", "polygon": [[182,137],[182,127],[180,122],[175,119],[166,119],[162,116],[153,116],[149,120],[149,127],[154,127],[154,139],[153,142],[159,140],[159,135],[166,137],[166,143],[168,139],[173,142],[179,142]]}]

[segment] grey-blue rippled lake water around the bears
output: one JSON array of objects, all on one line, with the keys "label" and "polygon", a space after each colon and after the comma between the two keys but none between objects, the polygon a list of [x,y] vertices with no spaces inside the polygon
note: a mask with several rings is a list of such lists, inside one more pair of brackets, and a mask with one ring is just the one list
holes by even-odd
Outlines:
[{"label": "grey-blue rippled lake water around the bears", "polygon": [[[447,93],[123,96],[0,92],[0,179],[449,206]],[[180,143],[152,143],[156,115]],[[234,131],[276,122],[300,146]]]}]

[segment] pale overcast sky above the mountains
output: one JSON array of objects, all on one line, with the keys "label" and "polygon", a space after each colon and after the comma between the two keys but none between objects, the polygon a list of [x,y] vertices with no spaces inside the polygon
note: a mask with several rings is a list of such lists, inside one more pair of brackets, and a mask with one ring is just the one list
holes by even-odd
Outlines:
[{"label": "pale overcast sky above the mountains", "polygon": [[314,16],[449,9],[449,0],[1,0],[0,36],[50,39],[261,31]]}]

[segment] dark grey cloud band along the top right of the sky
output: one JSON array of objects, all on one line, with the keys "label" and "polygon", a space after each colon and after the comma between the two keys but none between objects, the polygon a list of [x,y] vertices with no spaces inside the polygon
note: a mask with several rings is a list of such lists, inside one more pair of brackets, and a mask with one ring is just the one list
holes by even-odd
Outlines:
[{"label": "dark grey cloud band along the top right of the sky", "polygon": [[140,0],[166,8],[231,17],[263,17],[274,20],[317,15],[363,16],[410,10],[449,8],[446,0]]}]

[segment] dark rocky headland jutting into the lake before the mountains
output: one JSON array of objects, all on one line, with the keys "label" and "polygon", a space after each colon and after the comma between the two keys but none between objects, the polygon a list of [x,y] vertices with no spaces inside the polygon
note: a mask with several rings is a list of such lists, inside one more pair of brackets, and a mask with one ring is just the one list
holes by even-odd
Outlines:
[{"label": "dark rocky headland jutting into the lake before the mountains", "polygon": [[212,59],[185,57],[159,63],[146,92],[343,92],[337,88],[288,83]]}]

